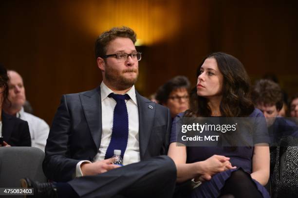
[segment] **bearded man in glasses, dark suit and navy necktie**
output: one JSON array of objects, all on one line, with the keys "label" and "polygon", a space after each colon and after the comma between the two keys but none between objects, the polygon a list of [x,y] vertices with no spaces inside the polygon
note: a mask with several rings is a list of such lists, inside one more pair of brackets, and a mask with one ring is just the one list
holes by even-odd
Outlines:
[{"label": "bearded man in glasses, dark suit and navy necktie", "polygon": [[[43,162],[45,175],[58,182],[48,185],[56,191],[47,195],[171,197],[176,167],[161,156],[167,154],[171,117],[134,88],[141,60],[135,41],[127,27],[104,32],[95,43],[100,87],[62,96]],[[114,149],[121,150],[125,166],[112,164]],[[22,186],[42,191],[28,179]]]}]

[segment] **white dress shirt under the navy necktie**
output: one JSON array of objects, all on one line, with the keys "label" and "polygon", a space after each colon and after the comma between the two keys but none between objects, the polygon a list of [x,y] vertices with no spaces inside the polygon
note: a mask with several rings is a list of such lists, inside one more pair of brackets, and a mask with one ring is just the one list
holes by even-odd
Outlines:
[{"label": "white dress shirt under the navy necktie", "polygon": [[[111,142],[112,137],[112,126],[113,126],[113,112],[116,106],[116,101],[108,95],[113,91],[108,88],[104,82],[100,85],[100,95],[101,95],[101,118],[102,118],[102,134],[101,134],[101,143],[98,150],[98,153],[94,157],[95,161],[104,160],[106,151]],[[140,147],[139,147],[139,113],[137,100],[135,95],[134,86],[126,92],[130,96],[129,100],[125,100],[126,107],[129,117],[129,136],[126,150],[123,156],[123,165],[127,165],[134,162],[140,161]],[[80,165],[82,162],[90,161],[80,161],[76,165],[75,176],[82,176]]]}]

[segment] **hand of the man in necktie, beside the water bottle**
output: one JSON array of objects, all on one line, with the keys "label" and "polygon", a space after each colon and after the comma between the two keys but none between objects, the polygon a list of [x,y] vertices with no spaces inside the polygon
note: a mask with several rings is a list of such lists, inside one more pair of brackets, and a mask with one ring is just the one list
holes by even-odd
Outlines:
[{"label": "hand of the man in necktie, beside the water bottle", "polygon": [[114,161],[113,158],[97,161],[93,163],[82,163],[81,164],[81,171],[83,176],[87,175],[97,175],[100,173],[107,172],[114,168],[120,167],[119,165],[114,165],[112,162]]}]

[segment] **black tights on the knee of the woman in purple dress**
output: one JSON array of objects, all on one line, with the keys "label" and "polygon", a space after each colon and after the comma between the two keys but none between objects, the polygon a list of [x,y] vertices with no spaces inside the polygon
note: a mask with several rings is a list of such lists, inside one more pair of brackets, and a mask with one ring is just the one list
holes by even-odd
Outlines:
[{"label": "black tights on the knee of the woman in purple dress", "polygon": [[237,170],[225,181],[220,198],[262,198],[262,195],[247,173]]}]

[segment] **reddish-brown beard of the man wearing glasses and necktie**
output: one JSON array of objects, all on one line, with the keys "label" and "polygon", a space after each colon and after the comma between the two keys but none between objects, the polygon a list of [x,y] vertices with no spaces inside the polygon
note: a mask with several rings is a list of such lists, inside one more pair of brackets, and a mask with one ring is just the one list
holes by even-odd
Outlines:
[{"label": "reddish-brown beard of the man wearing glasses and necktie", "polygon": [[[126,78],[123,76],[125,72],[135,72],[137,75],[135,78]],[[122,72],[107,67],[105,71],[105,78],[109,84],[117,90],[127,90],[134,85],[138,77],[137,69],[126,69]]]}]

